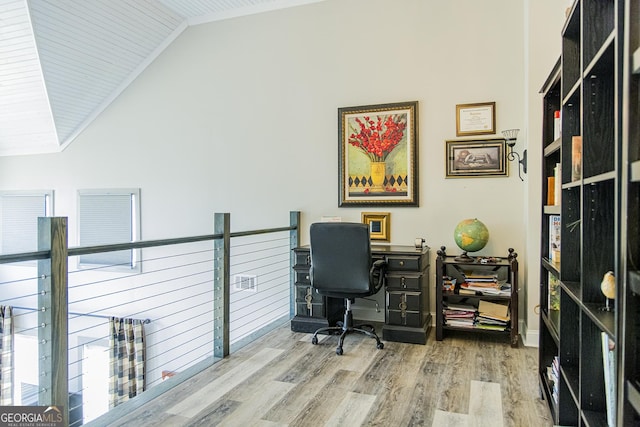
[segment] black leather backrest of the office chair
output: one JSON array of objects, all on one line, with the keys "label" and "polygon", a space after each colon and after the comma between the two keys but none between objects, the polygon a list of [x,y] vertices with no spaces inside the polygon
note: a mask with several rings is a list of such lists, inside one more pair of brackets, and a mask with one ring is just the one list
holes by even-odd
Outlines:
[{"label": "black leather backrest of the office chair", "polygon": [[327,296],[370,295],[372,265],[369,227],[349,222],[317,222],[309,229],[311,285]]}]

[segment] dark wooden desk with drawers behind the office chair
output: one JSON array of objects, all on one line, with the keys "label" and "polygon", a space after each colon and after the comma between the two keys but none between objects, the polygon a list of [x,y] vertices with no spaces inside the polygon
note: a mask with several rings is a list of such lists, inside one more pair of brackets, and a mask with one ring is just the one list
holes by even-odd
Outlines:
[{"label": "dark wooden desk with drawers behind the office chair", "polygon": [[[315,332],[342,320],[344,300],[322,297],[311,287],[309,246],[294,249],[295,307],[291,330]],[[385,323],[382,339],[426,344],[431,327],[429,312],[429,247],[372,245],[373,260],[387,262],[385,274]]]}]

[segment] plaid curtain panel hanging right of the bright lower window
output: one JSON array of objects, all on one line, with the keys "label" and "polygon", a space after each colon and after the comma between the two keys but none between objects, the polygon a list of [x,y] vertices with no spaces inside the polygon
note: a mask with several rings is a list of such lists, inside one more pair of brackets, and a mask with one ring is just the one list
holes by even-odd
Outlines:
[{"label": "plaid curtain panel hanging right of the bright lower window", "polygon": [[109,318],[109,408],[145,390],[144,322]]}]

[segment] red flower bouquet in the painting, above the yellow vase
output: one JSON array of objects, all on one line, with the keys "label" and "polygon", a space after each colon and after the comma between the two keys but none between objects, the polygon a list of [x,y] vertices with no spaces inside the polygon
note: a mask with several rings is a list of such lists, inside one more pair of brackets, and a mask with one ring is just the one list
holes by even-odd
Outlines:
[{"label": "red flower bouquet in the painting, above the yellow vase", "polygon": [[359,129],[350,123],[353,133],[349,135],[349,144],[362,150],[372,162],[384,162],[404,137],[407,127],[406,114],[363,116],[353,120]]}]

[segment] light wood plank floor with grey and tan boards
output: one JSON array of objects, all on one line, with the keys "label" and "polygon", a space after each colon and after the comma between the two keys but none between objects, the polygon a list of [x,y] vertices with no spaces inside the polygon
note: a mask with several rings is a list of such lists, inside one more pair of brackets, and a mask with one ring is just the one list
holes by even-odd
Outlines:
[{"label": "light wood plank floor with grey and tan boards", "polygon": [[[379,332],[379,328],[378,328]],[[284,325],[112,426],[551,426],[536,348],[459,333],[426,345]],[[169,381],[175,381],[172,378]]]}]

